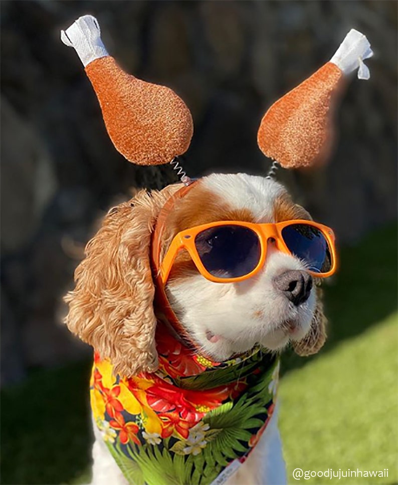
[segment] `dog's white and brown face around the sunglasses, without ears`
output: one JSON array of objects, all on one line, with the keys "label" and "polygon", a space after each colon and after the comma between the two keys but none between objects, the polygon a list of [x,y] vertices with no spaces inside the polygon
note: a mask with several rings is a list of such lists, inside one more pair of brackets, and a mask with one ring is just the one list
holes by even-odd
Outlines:
[{"label": "dog's white and brown face around the sunglasses, without ears", "polygon": [[[238,175],[202,179],[173,207],[165,221],[162,254],[179,231],[215,221],[254,223],[310,219],[273,180]],[[290,290],[289,290],[290,289]],[[263,268],[235,283],[215,283],[180,251],[166,285],[179,321],[207,355],[224,360],[261,344],[275,351],[310,331],[316,288],[303,263],[268,241]]]}]

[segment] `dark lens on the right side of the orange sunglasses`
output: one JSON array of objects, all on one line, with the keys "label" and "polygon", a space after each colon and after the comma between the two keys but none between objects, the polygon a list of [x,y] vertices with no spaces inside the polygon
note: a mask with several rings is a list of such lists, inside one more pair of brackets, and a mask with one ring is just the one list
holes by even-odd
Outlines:
[{"label": "dark lens on the right side of the orange sunglasses", "polygon": [[292,224],[282,229],[282,237],[289,251],[302,259],[307,269],[316,273],[327,273],[332,268],[329,245],[316,227]]}]

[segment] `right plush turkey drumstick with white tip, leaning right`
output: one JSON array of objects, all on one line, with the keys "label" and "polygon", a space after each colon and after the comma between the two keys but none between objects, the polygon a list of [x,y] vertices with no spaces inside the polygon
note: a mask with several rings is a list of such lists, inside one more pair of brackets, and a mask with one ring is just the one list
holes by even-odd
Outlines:
[{"label": "right plush turkey drumstick with white tip, leaning right", "polygon": [[324,163],[332,146],[332,116],[344,80],[358,68],[358,78],[369,79],[363,59],[372,55],[366,37],[351,29],[329,62],[266,112],[257,136],[261,151],[286,169]]}]

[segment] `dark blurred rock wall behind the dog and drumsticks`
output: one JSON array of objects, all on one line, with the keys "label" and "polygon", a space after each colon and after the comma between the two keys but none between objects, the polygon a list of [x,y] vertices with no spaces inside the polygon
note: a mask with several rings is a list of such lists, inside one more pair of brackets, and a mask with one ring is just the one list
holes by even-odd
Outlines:
[{"label": "dark blurred rock wall behind the dog and drumsticks", "polygon": [[[132,187],[173,182],[111,144],[91,84],[60,30],[99,20],[108,51],[137,77],[174,89],[192,112],[190,176],[265,174],[260,120],[333,55],[366,34],[369,81],[353,80],[330,164],[278,178],[339,243],[396,218],[397,4],[322,2],[1,2],[2,383],[90,349],[60,324],[62,295],[100,216]],[[364,262],[365,264],[365,262]]]}]

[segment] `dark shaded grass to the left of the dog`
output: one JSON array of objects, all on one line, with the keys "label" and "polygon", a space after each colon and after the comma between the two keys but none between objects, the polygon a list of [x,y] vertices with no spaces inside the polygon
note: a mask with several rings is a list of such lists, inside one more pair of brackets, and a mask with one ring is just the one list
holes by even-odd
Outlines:
[{"label": "dark shaded grass to the left of the dog", "polygon": [[35,372],[1,393],[1,483],[86,483],[90,363]]}]

